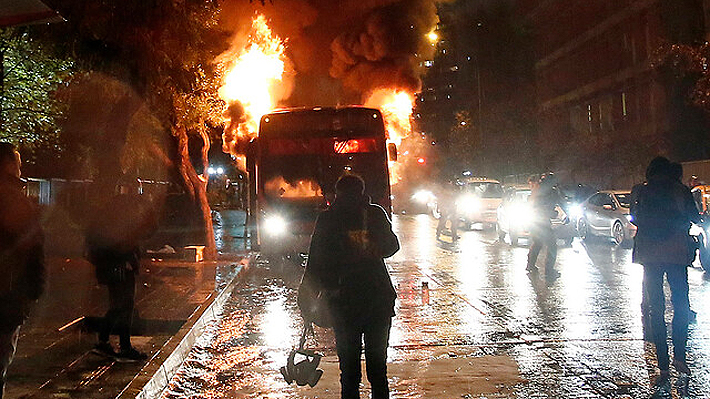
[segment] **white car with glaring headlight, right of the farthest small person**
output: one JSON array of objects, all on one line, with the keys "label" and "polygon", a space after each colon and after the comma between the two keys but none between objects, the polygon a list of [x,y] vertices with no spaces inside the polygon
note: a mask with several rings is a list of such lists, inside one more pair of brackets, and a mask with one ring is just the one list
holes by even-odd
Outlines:
[{"label": "white car with glaring headlight, right of the farthest small person", "polygon": [[456,209],[464,228],[481,223],[483,227],[495,226],[498,207],[503,202],[503,187],[498,180],[468,177],[457,182],[460,194]]}]

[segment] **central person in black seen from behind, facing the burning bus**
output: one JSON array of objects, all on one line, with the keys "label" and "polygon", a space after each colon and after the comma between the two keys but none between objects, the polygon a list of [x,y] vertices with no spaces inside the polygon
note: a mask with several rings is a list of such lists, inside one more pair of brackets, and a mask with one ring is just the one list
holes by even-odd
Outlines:
[{"label": "central person in black seen from behind, facing the burning bus", "polygon": [[387,347],[397,297],[384,258],[399,241],[384,209],[370,204],[359,176],[342,176],[335,201],[319,215],[304,281],[328,298],[340,364],[341,398],[360,397],[360,357],[365,342],[373,399],[389,398]]}]

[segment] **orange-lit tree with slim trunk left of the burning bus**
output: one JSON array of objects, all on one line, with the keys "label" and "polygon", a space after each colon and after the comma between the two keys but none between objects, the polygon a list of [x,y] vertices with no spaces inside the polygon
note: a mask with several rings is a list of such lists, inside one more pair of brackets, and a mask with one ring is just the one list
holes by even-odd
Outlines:
[{"label": "orange-lit tree with slim trunk left of the burning bus", "polygon": [[[217,95],[221,71],[214,59],[227,46],[227,35],[217,25],[217,2],[48,3],[68,21],[53,36],[65,41],[65,50],[75,54],[79,66],[126,83],[177,140],[177,167],[185,190],[202,211],[206,257],[214,257],[207,155],[211,127],[221,123],[224,109]],[[125,143],[129,125],[113,132],[117,140]],[[191,145],[195,140],[200,145]]]}]

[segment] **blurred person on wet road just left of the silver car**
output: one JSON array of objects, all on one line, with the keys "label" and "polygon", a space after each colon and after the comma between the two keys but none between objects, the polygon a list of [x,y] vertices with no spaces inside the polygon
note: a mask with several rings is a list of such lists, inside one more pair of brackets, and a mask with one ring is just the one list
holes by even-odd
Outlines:
[{"label": "blurred person on wet road just left of the silver car", "polygon": [[559,277],[555,270],[557,260],[557,237],[552,230],[552,221],[557,217],[557,206],[562,198],[556,188],[556,179],[552,173],[544,174],[539,180],[531,181],[530,202],[533,215],[530,224],[530,239],[532,241],[528,251],[527,270],[537,272],[537,257],[543,247],[545,255],[545,275],[549,278]]}]

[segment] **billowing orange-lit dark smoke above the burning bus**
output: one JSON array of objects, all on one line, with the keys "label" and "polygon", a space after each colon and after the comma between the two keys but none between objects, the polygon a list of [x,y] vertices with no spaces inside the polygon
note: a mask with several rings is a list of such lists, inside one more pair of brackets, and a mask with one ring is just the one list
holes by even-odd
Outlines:
[{"label": "billowing orange-lit dark smoke above the burning bus", "polygon": [[222,23],[244,41],[255,13],[287,40],[295,82],[280,106],[362,103],[383,87],[415,92],[434,50],[426,38],[437,23],[433,0],[232,0]]}]

